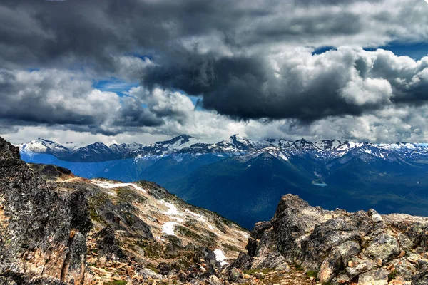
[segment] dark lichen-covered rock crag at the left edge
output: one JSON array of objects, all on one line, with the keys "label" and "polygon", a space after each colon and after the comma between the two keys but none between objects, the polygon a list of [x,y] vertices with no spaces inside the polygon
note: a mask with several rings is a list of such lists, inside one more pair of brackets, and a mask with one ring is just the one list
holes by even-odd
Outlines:
[{"label": "dark lichen-covered rock crag at the left edge", "polygon": [[0,138],[0,284],[89,284],[85,192],[62,192]]}]

